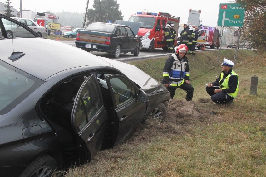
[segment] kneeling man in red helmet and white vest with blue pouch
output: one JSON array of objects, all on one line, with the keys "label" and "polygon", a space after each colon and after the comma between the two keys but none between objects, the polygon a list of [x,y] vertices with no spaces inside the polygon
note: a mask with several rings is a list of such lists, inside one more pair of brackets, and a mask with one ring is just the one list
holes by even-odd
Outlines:
[{"label": "kneeling man in red helmet and white vest with blue pouch", "polygon": [[187,51],[188,48],[185,44],[178,45],[176,53],[170,55],[165,61],[162,84],[170,92],[171,99],[174,98],[177,88],[186,91],[186,101],[193,98],[194,88],[189,81]]}]

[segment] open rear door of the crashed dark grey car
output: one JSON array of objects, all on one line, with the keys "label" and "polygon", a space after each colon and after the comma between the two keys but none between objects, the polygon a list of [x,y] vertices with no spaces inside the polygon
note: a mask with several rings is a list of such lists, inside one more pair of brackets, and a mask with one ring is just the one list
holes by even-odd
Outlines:
[{"label": "open rear door of the crashed dark grey car", "polygon": [[91,156],[100,150],[106,132],[107,112],[98,87],[94,75],[84,81],[77,93],[71,115],[72,127],[86,143]]}]

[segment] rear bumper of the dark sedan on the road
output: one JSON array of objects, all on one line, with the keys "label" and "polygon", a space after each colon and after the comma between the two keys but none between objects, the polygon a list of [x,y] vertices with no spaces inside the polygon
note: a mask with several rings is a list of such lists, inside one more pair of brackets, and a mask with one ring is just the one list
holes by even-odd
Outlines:
[{"label": "rear bumper of the dark sedan on the road", "polygon": [[116,49],[117,44],[115,45],[106,45],[99,43],[89,43],[84,41],[75,41],[76,47],[87,50],[87,51],[98,51],[98,52],[108,52],[113,53]]}]

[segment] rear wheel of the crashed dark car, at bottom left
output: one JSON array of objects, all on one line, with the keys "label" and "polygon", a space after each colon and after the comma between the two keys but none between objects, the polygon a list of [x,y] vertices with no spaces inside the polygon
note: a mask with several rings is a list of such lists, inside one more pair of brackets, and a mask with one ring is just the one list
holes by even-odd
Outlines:
[{"label": "rear wheel of the crashed dark car, at bottom left", "polygon": [[32,161],[19,175],[19,177],[39,176],[46,177],[51,176],[54,170],[57,168],[57,162],[49,155],[42,155]]}]

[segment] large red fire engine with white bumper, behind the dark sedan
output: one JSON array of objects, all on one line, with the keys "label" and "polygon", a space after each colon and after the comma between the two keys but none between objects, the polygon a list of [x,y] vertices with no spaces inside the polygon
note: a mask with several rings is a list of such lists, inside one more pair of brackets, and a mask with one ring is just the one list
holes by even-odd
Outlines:
[{"label": "large red fire engine with white bumper, behind the dark sedan", "polygon": [[[137,35],[142,39],[142,49],[152,52],[155,48],[163,48],[164,51],[167,51],[168,47],[164,36],[165,25],[173,23],[177,32],[180,17],[164,12],[137,12],[135,15],[131,15],[128,21],[141,23]],[[176,40],[174,45],[176,45]]]}]

